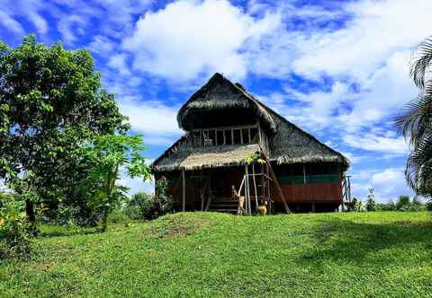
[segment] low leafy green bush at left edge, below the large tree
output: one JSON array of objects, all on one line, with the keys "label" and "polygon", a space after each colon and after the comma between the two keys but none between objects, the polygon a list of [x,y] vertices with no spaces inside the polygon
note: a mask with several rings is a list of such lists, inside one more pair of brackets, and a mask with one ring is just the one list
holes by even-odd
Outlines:
[{"label": "low leafy green bush at left edge, below the large tree", "polygon": [[0,208],[0,259],[22,258],[31,252],[31,226],[23,202],[4,200]]}]

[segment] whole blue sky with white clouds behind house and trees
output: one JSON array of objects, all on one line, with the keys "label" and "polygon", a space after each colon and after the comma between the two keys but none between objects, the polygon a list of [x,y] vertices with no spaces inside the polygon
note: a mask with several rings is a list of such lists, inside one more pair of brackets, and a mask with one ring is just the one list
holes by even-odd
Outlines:
[{"label": "whole blue sky with white clouds behind house and trees", "polygon": [[223,73],[347,154],[356,197],[374,187],[385,202],[410,194],[392,118],[417,94],[410,57],[431,11],[430,0],[0,0],[0,39],[88,48],[149,158],[181,136],[181,104]]}]

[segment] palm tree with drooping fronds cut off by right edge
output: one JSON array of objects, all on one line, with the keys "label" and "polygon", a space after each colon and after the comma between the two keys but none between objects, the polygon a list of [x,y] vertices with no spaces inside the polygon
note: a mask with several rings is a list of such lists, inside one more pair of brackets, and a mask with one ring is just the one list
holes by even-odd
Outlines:
[{"label": "palm tree with drooping fronds cut off by right edge", "polygon": [[410,142],[406,179],[417,194],[432,195],[432,38],[423,41],[412,60],[410,75],[419,87],[419,95],[396,118],[403,136]]}]

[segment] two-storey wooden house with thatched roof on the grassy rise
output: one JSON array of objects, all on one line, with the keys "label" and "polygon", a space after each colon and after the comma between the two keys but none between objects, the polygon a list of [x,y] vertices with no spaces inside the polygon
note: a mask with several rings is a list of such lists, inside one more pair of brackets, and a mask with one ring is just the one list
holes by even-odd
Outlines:
[{"label": "two-storey wooden house with thatched roof on the grassy rise", "polygon": [[[311,115],[311,117],[313,117]],[[166,177],[175,208],[246,213],[334,211],[349,161],[266,107],[239,83],[214,74],[179,110],[184,136],[151,169]]]}]

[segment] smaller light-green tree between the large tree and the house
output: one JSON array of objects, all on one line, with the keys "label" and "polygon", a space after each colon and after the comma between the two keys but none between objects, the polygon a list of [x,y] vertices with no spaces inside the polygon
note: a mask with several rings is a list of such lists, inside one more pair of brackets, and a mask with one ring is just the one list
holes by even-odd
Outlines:
[{"label": "smaller light-green tree between the large tree and the house", "polygon": [[94,161],[86,179],[86,188],[91,193],[93,205],[102,210],[102,230],[106,231],[108,215],[125,199],[127,188],[116,185],[119,170],[124,168],[131,178],[150,180],[151,174],[146,159],[141,155],[145,149],[141,136],[99,136],[84,147],[89,160]]}]

